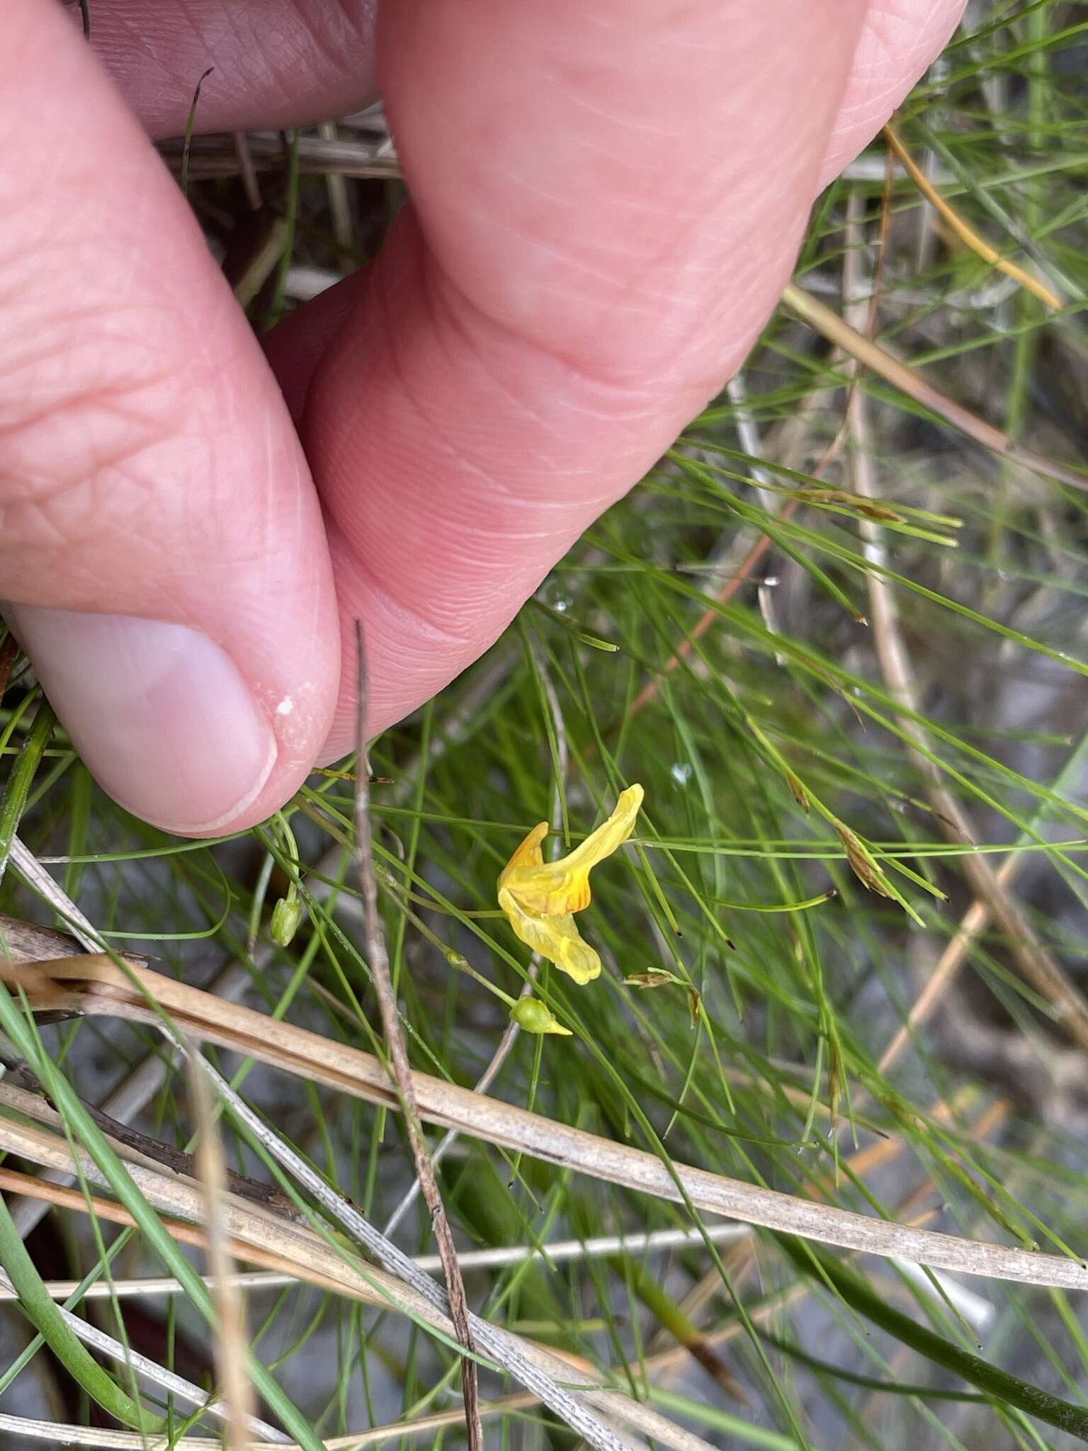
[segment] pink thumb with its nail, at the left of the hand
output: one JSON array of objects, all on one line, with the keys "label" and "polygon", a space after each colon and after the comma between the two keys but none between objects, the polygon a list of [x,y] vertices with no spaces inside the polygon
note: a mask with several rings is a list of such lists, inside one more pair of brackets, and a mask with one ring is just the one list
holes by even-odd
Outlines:
[{"label": "pink thumb with its nail, at the left of the hand", "polygon": [[113,797],[174,831],[245,826],[305,778],[338,683],[297,437],[58,6],[4,9],[0,149],[4,614]]}]

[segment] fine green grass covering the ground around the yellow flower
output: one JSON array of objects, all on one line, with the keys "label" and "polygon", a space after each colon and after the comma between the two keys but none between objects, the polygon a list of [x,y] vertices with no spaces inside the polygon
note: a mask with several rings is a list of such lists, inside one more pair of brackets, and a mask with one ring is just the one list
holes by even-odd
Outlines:
[{"label": "fine green grass covering the ground around the yellow flower", "polygon": [[[1084,44],[1081,6],[995,4],[899,120],[915,157],[931,148],[953,205],[1056,283],[1065,311],[1047,315],[941,239],[920,267],[920,197],[897,176],[876,334],[946,395],[1066,463],[1076,463],[1087,422]],[[872,155],[882,157],[879,144]],[[321,239],[322,178],[294,164],[290,181],[299,222],[290,245],[328,264],[337,252]],[[191,181],[190,194],[202,186]],[[843,263],[860,239],[847,234],[852,194],[863,239],[873,239],[882,183],[847,174],[818,203],[798,266],[801,283],[823,289],[837,312],[849,300]],[[1088,988],[1088,499],[984,454],[863,374],[869,463],[881,506],[894,512],[878,519],[886,560],[873,562],[862,534],[872,511],[841,492],[821,499],[854,485],[849,438],[815,476],[843,425],[847,382],[844,360],[779,312],[746,366],[746,405],[718,399],[556,567],[490,654],[376,743],[373,769],[393,782],[373,788],[371,811],[409,1052],[415,1066],[456,1084],[479,1078],[508,1022],[487,984],[516,997],[528,969],[528,952],[493,916],[499,869],[535,821],[550,818],[560,840],[576,842],[638,781],[646,808],[635,842],[596,868],[580,918],[603,975],[576,988],[541,968],[535,991],[574,1036],[522,1035],[490,1093],[807,1201],[1081,1255],[1088,1059],[1068,1017],[1024,979],[1023,949],[1005,932],[984,927],[936,1017],[889,1066],[881,1059],[970,907],[969,858],[998,869],[1017,846],[1005,891],[1073,990]],[[759,459],[740,443],[753,428]],[[770,470],[760,489],[754,463]],[[778,512],[783,503],[789,517]],[[715,602],[760,534],[767,554]],[[872,617],[873,576],[898,605],[917,711],[882,678],[875,624],[859,622]],[[708,609],[712,621],[696,633]],[[191,982],[239,966],[250,1006],[374,1048],[347,859],[348,781],[315,775],[284,811],[297,855],[273,826],[218,846],[170,840],[93,786],[19,667],[0,711],[0,862],[17,826],[38,856],[62,859],[49,871],[107,943],[149,952],[160,971]],[[950,840],[931,772],[970,814],[975,847]],[[308,913],[279,946],[268,927],[289,881]],[[12,865],[0,910],[51,921]],[[476,977],[458,971],[461,959]],[[651,990],[625,982],[647,972],[670,977]],[[20,1386],[29,1397],[20,1405],[33,1403],[38,1367],[42,1383],[71,1377],[136,1423],[132,1377],[73,1349],[35,1265],[46,1278],[91,1278],[109,1246],[102,1274],[113,1281],[180,1274],[171,1300],[141,1303],[168,1332],[161,1361],[186,1362],[200,1378],[191,1364],[203,1355],[210,1389],[203,1347],[215,1307],[81,1107],[161,1053],[161,1037],[109,1019],[36,1030],[13,997],[0,1017],[17,1056],[41,1058],[71,1139],[141,1222],[138,1235],[106,1222],[96,1235],[93,1216],[54,1210],[64,1233],[30,1239],[29,1259],[0,1225],[0,1249],[12,1249],[0,1258],[48,1342],[17,1362],[17,1376],[0,1376],[0,1413]],[[392,1113],[254,1072],[236,1055],[209,1049],[209,1058],[339,1194],[386,1222],[409,1183]],[[0,1126],[12,1111],[0,1103]],[[167,1065],[138,1125],[170,1145],[191,1140],[183,1068]],[[222,1133],[236,1168],[273,1180],[229,1114]],[[440,1183],[464,1249],[698,1223],[682,1206],[469,1136],[442,1161]],[[397,1242],[431,1252],[418,1206]],[[611,1367],[615,1389],[720,1447],[1088,1439],[1084,1293],[960,1280],[988,1302],[985,1323],[886,1259],[756,1232],[721,1248],[696,1241],[473,1270],[467,1287],[482,1316],[528,1325],[541,1344]],[[145,1322],[128,1325],[131,1300],[97,1304],[103,1329],[154,1358]],[[250,1323],[267,1365],[257,1373],[264,1415],[281,1412],[300,1434],[344,1435],[457,1403],[448,1345],[393,1309],[263,1288],[250,1297]],[[724,1374],[691,1342],[677,1349],[683,1326]],[[485,1400],[514,1389],[482,1371]],[[139,1394],[148,1419],[167,1416],[180,1434],[189,1407],[147,1383]],[[90,1423],[74,1389],[62,1403],[70,1419]],[[493,1445],[574,1444],[540,1407],[485,1425]],[[203,1421],[191,1434],[216,1431]],[[428,1434],[463,1441],[456,1425]]]}]

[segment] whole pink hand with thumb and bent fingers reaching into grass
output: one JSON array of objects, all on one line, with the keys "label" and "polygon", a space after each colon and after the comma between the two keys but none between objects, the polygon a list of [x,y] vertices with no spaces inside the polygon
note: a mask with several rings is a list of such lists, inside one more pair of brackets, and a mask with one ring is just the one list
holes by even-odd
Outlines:
[{"label": "whole pink hand with thumb and bent fingers reaching into grass", "polygon": [[[962,7],[90,0],[88,48],[7,0],[0,599],[102,785],[245,827],[351,749],[355,618],[373,733],[474,660],[740,364]],[[412,194],[265,351],[148,142],[209,65],[216,131],[377,75]]]}]

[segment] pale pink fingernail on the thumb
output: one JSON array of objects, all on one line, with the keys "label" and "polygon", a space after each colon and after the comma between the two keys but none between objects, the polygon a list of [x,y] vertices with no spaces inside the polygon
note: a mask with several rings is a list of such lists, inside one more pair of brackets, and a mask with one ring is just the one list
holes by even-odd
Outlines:
[{"label": "pale pink fingernail on the thumb", "polygon": [[126,810],[212,834],[257,800],[276,737],[207,636],[126,615],[6,614],[83,760]]}]

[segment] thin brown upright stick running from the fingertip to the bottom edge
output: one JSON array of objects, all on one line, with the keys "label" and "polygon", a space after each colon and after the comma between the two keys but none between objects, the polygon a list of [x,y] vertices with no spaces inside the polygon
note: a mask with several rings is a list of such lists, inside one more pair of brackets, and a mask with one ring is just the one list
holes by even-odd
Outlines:
[{"label": "thin brown upright stick running from the fingertip to the bottom edge", "polygon": [[[382,1014],[382,1029],[389,1049],[389,1075],[393,1080],[400,1111],[405,1117],[408,1142],[415,1161],[415,1171],[419,1180],[419,1190],[431,1212],[431,1230],[442,1261],[445,1275],[445,1293],[450,1297],[450,1319],[457,1332],[458,1342],[466,1351],[473,1351],[473,1335],[469,1328],[469,1299],[464,1293],[461,1267],[457,1264],[457,1248],[453,1242],[450,1220],[445,1214],[445,1204],[438,1191],[434,1177],[431,1155],[426,1151],[426,1140],[419,1123],[419,1104],[416,1101],[415,1082],[412,1080],[412,1065],[408,1061],[405,1036],[400,1032],[400,1016],[393,992],[393,979],[389,972],[389,952],[386,950],[386,934],[382,927],[382,914],[377,907],[377,876],[374,874],[374,852],[371,846],[370,827],[370,765],[367,757],[367,663],[366,646],[363,640],[363,625],[355,621],[355,649],[358,651],[358,702],[355,724],[355,750],[358,760],[355,784],[355,869],[363,892],[363,910],[366,920],[366,948],[370,961],[370,972],[374,979],[377,1006]],[[464,1422],[469,1428],[469,1451],[483,1451],[483,1428],[480,1425],[480,1389],[476,1374],[476,1361],[471,1355],[461,1357],[461,1389],[464,1392]]]}]

